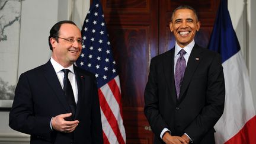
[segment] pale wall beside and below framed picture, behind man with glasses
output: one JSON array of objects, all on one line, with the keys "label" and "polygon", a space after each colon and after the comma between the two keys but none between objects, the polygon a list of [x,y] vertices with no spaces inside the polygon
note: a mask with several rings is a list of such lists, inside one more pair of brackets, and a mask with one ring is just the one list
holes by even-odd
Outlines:
[{"label": "pale wall beside and below framed picture, behind man with glasses", "polygon": [[[50,59],[50,28],[60,20],[73,20],[79,28],[89,9],[89,0],[23,0],[21,1],[20,50],[18,76]],[[8,126],[9,112],[0,112],[0,144],[28,143],[29,136]]]}]

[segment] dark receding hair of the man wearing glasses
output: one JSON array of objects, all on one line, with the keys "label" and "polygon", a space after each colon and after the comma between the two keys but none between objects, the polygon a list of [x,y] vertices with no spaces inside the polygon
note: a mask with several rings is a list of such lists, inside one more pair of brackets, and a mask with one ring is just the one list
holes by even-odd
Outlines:
[{"label": "dark receding hair of the man wearing glasses", "polygon": [[55,38],[57,40],[57,37],[59,37],[59,29],[60,29],[60,26],[62,24],[73,24],[73,25],[76,25],[75,23],[73,23],[73,21],[67,21],[67,20],[59,21],[58,23],[53,25],[53,27],[50,29],[50,36],[48,38],[50,50],[53,49],[52,44],[50,43],[50,39],[53,37],[53,38]]}]

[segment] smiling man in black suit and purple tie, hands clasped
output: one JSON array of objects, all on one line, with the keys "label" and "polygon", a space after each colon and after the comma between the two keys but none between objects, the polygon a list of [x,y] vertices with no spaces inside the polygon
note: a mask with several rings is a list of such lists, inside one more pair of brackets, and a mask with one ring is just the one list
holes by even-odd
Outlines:
[{"label": "smiling man in black suit and purple tie, hands clasped", "polygon": [[144,112],[154,141],[215,143],[213,126],[225,101],[221,57],[194,42],[200,22],[193,8],[176,8],[169,27],[175,47],[153,57],[145,88]]}]

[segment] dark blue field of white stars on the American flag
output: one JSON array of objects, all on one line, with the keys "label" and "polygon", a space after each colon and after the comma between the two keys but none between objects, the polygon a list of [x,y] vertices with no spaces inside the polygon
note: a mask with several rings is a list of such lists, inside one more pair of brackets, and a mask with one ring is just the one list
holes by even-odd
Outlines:
[{"label": "dark blue field of white stars on the American flag", "polygon": [[[95,74],[100,85],[117,76],[116,62],[111,52],[108,41],[107,28],[105,27],[104,14],[98,11],[99,5],[91,9],[85,18],[82,28],[82,54],[77,63],[84,69]],[[102,82],[102,83],[101,83]]]}]

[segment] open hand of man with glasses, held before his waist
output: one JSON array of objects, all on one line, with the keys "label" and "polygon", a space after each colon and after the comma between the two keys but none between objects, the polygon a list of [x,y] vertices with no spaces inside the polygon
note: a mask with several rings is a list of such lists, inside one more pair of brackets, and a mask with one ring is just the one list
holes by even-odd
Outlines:
[{"label": "open hand of man with glasses, held before his waist", "polygon": [[65,118],[71,117],[72,113],[59,114],[52,119],[52,127],[53,129],[63,132],[63,133],[71,133],[75,130],[76,126],[78,126],[79,121],[66,121]]}]

